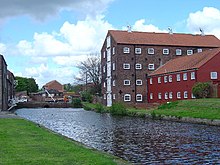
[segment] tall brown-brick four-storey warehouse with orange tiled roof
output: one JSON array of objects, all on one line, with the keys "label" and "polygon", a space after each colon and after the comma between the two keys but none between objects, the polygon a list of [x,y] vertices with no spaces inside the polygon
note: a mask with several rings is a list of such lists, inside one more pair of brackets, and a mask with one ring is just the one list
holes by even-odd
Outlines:
[{"label": "tall brown-brick four-storey warehouse with orange tiled roof", "polygon": [[171,59],[218,47],[213,35],[109,30],[101,49],[103,104],[145,104],[148,74]]}]

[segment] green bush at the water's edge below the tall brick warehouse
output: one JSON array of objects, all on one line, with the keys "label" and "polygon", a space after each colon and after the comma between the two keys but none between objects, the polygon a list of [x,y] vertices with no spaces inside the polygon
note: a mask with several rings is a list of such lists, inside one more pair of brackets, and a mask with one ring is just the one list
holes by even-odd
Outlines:
[{"label": "green bush at the water's edge below the tall brick warehouse", "polygon": [[112,115],[126,115],[127,114],[127,109],[125,105],[121,102],[113,103],[112,106],[110,107],[110,113]]}]

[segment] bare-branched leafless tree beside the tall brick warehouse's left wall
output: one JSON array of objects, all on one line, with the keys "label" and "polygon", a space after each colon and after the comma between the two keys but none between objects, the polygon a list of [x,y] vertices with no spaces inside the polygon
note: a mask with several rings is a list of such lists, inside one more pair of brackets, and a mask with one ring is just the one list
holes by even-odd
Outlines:
[{"label": "bare-branched leafless tree beside the tall brick warehouse's left wall", "polygon": [[78,66],[79,76],[75,79],[82,84],[92,84],[92,88],[88,88],[91,94],[101,93],[101,60],[98,54],[90,55],[88,59],[82,61]]}]

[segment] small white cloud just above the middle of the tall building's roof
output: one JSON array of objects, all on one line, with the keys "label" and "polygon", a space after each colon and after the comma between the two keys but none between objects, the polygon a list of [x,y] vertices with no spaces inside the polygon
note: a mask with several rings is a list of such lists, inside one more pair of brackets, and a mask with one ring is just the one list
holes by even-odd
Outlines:
[{"label": "small white cloud just above the middle of the tall building's roof", "polygon": [[[123,27],[124,30],[127,28]],[[166,33],[167,30],[161,30],[158,27],[152,24],[145,24],[145,19],[137,20],[134,25],[131,27],[133,31],[143,31],[143,32],[162,32]]]}]

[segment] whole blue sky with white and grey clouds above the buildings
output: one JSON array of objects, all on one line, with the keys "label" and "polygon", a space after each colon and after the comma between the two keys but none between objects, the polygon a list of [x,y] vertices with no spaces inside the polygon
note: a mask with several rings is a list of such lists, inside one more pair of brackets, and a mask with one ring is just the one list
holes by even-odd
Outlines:
[{"label": "whole blue sky with white and grey clouds above the buildings", "polygon": [[219,0],[0,0],[0,54],[15,76],[74,83],[77,65],[100,54],[108,30],[213,34]]}]

